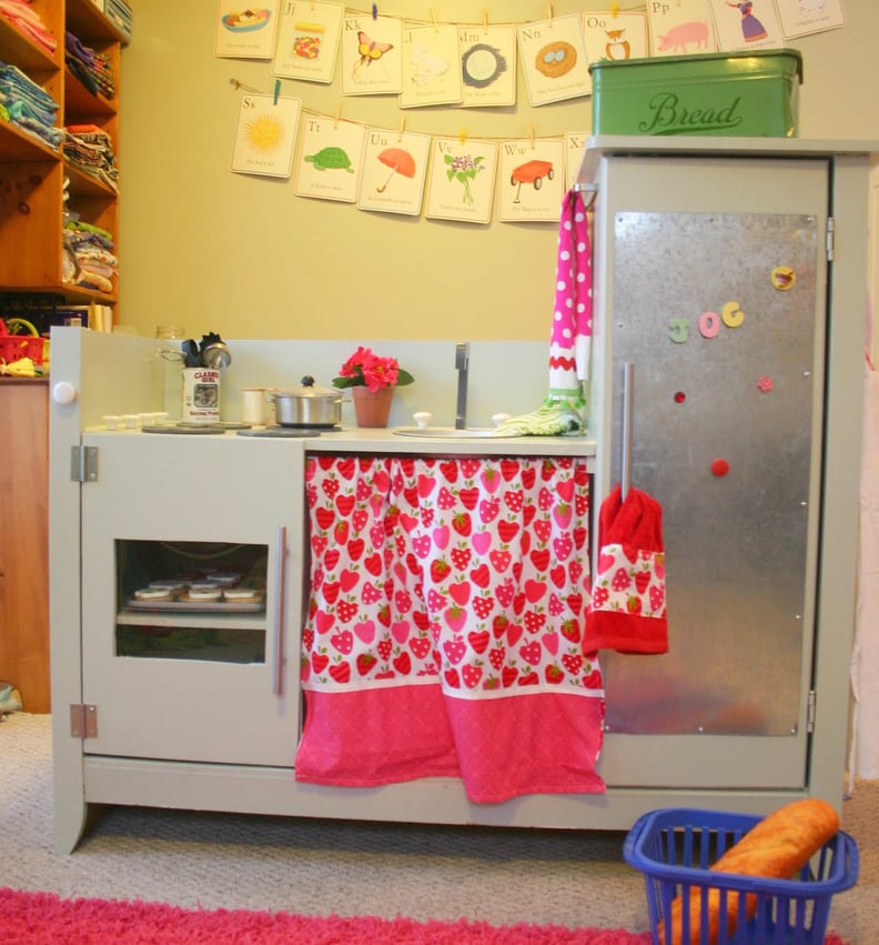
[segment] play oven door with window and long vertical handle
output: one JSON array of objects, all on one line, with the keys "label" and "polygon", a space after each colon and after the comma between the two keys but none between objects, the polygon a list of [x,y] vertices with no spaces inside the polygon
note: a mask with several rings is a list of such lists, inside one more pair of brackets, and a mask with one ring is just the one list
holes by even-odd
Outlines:
[{"label": "play oven door with window and long vertical handle", "polygon": [[[83,442],[99,449],[98,479],[82,486],[83,702],[98,707],[87,752],[292,765],[302,445],[234,434]],[[264,594],[203,605],[185,587],[171,601],[134,596],[156,581],[214,577]]]}]

